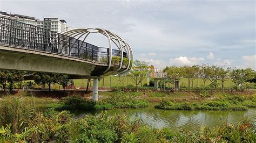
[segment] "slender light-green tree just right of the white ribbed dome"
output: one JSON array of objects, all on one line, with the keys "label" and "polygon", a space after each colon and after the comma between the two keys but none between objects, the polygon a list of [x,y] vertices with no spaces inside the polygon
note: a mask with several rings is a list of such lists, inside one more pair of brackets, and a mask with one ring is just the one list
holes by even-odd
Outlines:
[{"label": "slender light-green tree just right of the white ribbed dome", "polygon": [[138,92],[138,85],[142,83],[143,79],[147,76],[149,73],[149,70],[147,69],[149,63],[145,61],[134,61],[133,70],[130,71],[129,76],[131,77],[132,82],[136,85],[136,91]]}]

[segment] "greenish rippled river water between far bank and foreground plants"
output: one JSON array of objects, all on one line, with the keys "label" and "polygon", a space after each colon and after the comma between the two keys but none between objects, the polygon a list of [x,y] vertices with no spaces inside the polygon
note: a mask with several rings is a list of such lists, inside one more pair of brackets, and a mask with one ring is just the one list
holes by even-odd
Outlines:
[{"label": "greenish rippled river water between far bank and foreground plants", "polygon": [[[169,126],[174,129],[185,129],[193,131],[203,125],[213,127],[219,124],[220,119],[234,123],[235,120],[244,117],[253,118],[256,109],[252,108],[248,111],[182,111],[182,110],[161,110],[155,109],[155,104],[151,104],[149,108],[143,109],[114,109],[109,110],[110,115],[115,113],[126,113],[132,119],[141,119],[143,124],[157,128]],[[84,112],[79,110],[71,111],[76,117],[84,117],[89,113],[98,115],[99,112]],[[255,119],[254,119],[255,120]]]}]

